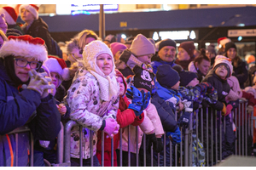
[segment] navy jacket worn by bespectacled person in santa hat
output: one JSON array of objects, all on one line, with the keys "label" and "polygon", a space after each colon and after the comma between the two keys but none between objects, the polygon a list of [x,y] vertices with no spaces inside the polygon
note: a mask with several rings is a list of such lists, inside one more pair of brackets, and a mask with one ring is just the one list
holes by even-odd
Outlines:
[{"label": "navy jacket worn by bespectacled person in santa hat", "polygon": [[[18,149],[15,135],[8,134],[17,127],[27,125],[34,140],[52,140],[61,129],[61,116],[51,94],[40,99],[40,94],[31,89],[20,91],[12,82],[0,59],[0,166],[26,166],[28,162],[29,134],[18,133]],[[47,122],[47,123],[45,123]],[[50,133],[49,133],[50,132]],[[15,164],[18,150],[18,165]]]}]

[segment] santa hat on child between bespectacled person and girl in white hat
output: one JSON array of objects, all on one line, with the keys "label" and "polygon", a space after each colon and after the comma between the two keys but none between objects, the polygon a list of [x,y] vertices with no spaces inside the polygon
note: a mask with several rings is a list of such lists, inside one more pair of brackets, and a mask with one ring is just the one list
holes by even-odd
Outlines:
[{"label": "santa hat on child between bespectacled person and girl in white hat", "polygon": [[55,56],[48,56],[48,59],[44,61],[42,68],[44,71],[48,72],[49,75],[50,72],[58,73],[61,77],[61,81],[66,80],[67,74],[69,75],[65,60]]}]

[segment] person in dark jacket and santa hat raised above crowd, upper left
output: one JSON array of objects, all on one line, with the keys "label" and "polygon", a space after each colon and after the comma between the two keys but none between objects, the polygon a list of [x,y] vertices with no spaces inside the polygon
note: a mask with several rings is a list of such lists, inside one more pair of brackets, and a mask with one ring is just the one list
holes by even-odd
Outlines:
[{"label": "person in dark jacket and santa hat raised above crowd, upper left", "polygon": [[39,7],[34,4],[23,4],[20,5],[20,18],[25,22],[21,26],[22,31],[25,35],[30,35],[32,37],[41,37],[46,46],[48,54],[53,54],[53,48],[51,45],[51,37],[48,31],[48,25],[38,17]]}]

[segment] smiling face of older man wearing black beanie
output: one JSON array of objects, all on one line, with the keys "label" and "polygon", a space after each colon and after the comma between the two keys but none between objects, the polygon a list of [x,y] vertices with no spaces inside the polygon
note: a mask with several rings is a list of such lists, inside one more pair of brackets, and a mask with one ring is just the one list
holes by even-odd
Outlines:
[{"label": "smiling face of older man wearing black beanie", "polygon": [[173,59],[175,59],[175,55],[176,48],[172,46],[165,46],[161,48],[160,51],[158,52],[158,56],[160,57],[160,59],[166,62],[172,62]]}]

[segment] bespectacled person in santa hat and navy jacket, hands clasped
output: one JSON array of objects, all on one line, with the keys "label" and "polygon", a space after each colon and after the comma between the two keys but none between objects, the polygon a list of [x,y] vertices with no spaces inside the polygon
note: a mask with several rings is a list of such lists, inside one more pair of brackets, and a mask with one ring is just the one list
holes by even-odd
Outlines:
[{"label": "bespectacled person in santa hat and navy jacket, hands clasped", "polygon": [[10,36],[0,49],[0,166],[27,166],[30,160],[29,134],[16,138],[10,134],[15,128],[28,126],[35,142],[55,139],[61,129],[55,99],[48,93],[54,85],[46,73],[37,72],[45,59],[41,38]]}]

